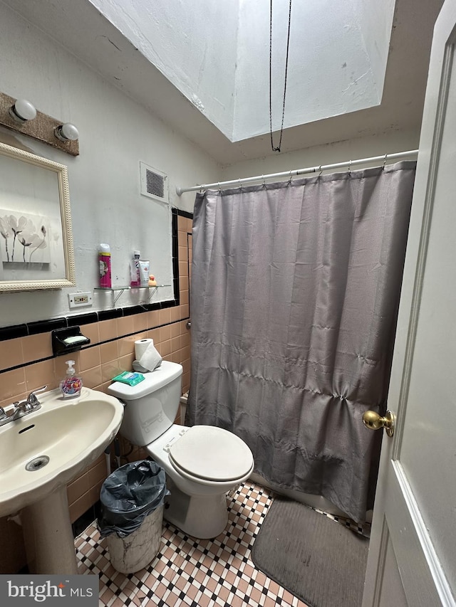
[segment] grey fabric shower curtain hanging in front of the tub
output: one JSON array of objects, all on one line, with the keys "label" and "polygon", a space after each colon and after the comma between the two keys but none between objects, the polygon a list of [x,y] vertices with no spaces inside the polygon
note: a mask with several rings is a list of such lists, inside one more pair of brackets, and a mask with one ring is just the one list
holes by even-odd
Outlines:
[{"label": "grey fabric shower curtain hanging in front of the tub", "polygon": [[356,521],[373,505],[415,162],[198,194],[187,423]]}]

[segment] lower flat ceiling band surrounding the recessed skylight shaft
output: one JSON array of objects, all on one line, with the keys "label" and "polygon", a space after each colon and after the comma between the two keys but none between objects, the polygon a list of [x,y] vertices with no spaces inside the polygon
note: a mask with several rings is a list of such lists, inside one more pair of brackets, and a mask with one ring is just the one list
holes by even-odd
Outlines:
[{"label": "lower flat ceiling band surrounding the recessed skylight shaft", "polygon": [[[88,0],[3,1],[115,87],[203,147],[217,162],[232,164],[273,154],[269,134],[230,141],[197,109],[195,100],[187,99]],[[135,3],[130,1],[129,4]],[[381,102],[373,107],[286,128],[282,152],[370,134],[418,129],[432,28],[441,5],[442,0],[419,3],[397,0]]]}]

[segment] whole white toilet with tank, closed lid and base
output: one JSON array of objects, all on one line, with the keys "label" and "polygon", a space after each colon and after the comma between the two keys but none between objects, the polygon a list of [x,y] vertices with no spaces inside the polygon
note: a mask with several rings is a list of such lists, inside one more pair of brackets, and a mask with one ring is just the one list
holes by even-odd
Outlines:
[{"label": "whole white toilet with tank, closed lid and base", "polygon": [[227,492],[254,468],[252,451],[233,433],[215,426],[178,426],[182,366],[162,364],[128,386],[115,381],[108,392],[125,403],[120,434],[144,446],[167,474],[165,519],[186,534],[216,537],[227,526]]}]

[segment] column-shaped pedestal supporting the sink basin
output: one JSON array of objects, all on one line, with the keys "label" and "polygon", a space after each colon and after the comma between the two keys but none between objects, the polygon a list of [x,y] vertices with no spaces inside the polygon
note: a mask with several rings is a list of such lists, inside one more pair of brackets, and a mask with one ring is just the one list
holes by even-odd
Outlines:
[{"label": "column-shaped pedestal supporting the sink basin", "polygon": [[31,574],[77,574],[66,486],[21,510],[28,569]]}]

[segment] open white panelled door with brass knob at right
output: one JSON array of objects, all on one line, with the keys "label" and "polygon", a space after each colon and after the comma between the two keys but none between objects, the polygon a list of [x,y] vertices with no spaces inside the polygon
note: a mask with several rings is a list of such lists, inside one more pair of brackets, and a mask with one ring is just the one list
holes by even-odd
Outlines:
[{"label": "open white panelled door with brass knob at right", "polygon": [[397,423],[393,438],[383,436],[363,607],[456,605],[455,24],[456,0],[446,0],[432,42],[388,396]]}]

